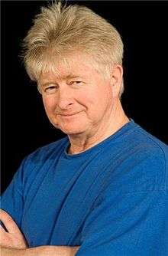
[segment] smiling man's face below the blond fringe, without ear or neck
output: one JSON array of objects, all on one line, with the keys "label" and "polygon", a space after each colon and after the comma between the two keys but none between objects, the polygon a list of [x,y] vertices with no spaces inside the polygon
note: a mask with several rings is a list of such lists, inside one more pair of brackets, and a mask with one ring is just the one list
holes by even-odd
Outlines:
[{"label": "smiling man's face below the blond fringe, without ear or neck", "polygon": [[92,136],[111,114],[110,80],[84,54],[73,54],[66,61],[68,65],[58,64],[56,72],[43,73],[38,81],[47,117],[69,136]]}]

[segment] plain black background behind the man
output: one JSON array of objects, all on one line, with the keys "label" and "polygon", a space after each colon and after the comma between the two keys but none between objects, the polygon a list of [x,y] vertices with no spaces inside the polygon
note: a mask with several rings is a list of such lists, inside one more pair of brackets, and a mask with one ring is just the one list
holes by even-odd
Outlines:
[{"label": "plain black background behind the man", "polygon": [[[168,143],[168,2],[76,3],[92,8],[121,33],[124,110],[145,130]],[[47,2],[2,1],[2,192],[24,156],[64,136],[47,120],[36,84],[18,57],[21,40],[41,5]]]}]

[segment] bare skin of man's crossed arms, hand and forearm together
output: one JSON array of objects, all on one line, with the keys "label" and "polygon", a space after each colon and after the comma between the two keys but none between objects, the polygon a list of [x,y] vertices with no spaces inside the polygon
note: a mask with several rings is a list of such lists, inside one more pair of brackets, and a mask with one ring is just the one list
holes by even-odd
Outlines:
[{"label": "bare skin of man's crossed arms, hand and forearm together", "polygon": [[7,231],[0,227],[1,256],[74,256],[79,247],[39,246],[27,248],[27,242],[18,226],[7,212],[0,210],[0,219]]}]

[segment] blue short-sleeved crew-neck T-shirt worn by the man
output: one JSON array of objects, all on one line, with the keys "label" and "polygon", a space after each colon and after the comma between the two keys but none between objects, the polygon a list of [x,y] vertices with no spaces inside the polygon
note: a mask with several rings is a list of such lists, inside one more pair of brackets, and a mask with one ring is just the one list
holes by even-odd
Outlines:
[{"label": "blue short-sleeved crew-neck T-shirt worn by the man", "polygon": [[131,120],[84,153],[67,137],[27,156],[2,195],[30,247],[168,255],[168,147]]}]

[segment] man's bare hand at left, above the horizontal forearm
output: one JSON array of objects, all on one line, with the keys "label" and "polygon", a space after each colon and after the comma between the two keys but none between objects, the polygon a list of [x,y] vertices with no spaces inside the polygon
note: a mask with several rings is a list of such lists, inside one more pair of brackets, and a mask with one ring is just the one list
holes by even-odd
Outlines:
[{"label": "man's bare hand at left, above the horizontal forearm", "polygon": [[8,231],[0,226],[0,245],[5,248],[24,249],[27,242],[21,233],[18,225],[14,222],[7,212],[0,209],[0,220]]}]

